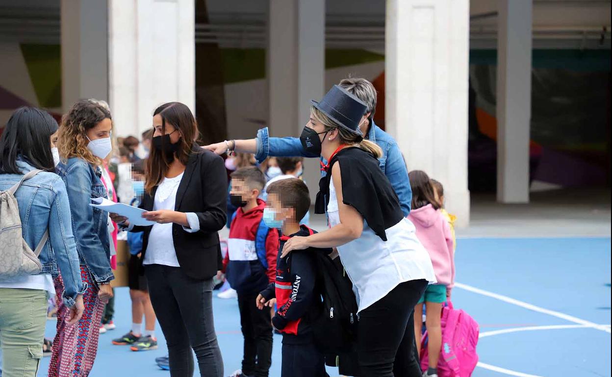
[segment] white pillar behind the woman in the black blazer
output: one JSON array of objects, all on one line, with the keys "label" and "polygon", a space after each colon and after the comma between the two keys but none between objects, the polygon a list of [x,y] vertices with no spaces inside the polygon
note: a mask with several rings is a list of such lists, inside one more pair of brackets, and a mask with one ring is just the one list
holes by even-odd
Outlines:
[{"label": "white pillar behind the woman in the black blazer", "polygon": [[193,0],[108,0],[109,98],[118,136],[140,136],[162,103],[195,114]]}]

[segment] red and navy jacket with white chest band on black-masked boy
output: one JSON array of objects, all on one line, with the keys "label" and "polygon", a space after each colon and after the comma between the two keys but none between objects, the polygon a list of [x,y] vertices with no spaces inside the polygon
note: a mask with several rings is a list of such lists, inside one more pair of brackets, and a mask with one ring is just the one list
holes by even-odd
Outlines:
[{"label": "red and navy jacket with white chest band on black-masked boy", "polygon": [[276,276],[278,230],[267,230],[265,250],[258,250],[256,239],[266,202],[257,199],[257,204],[247,212],[238,208],[230,225],[223,271],[231,287],[238,293],[259,292],[274,282]]}]

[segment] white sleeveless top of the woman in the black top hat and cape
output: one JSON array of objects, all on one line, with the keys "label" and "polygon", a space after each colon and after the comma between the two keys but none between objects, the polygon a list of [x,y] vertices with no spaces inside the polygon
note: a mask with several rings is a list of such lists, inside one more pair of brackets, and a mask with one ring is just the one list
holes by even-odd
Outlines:
[{"label": "white sleeveless top of the woman in the black top hat and cape", "polygon": [[[329,180],[327,204],[329,226],[340,224],[338,198],[334,180]],[[357,313],[387,295],[400,283],[425,279],[436,282],[428,252],[416,236],[408,219],[386,229],[387,241],[370,229],[364,219],[364,230],[357,240],[338,246],[338,254],[346,269],[357,298]]]}]

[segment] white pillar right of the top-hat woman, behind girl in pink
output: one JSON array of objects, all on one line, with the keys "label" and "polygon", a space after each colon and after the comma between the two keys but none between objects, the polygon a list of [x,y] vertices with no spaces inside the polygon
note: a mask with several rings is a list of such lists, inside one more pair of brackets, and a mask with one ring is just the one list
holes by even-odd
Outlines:
[{"label": "white pillar right of the top-hat woman, behind girl in pink", "polygon": [[387,0],[385,124],[408,170],[444,185],[469,222],[469,0]]}]

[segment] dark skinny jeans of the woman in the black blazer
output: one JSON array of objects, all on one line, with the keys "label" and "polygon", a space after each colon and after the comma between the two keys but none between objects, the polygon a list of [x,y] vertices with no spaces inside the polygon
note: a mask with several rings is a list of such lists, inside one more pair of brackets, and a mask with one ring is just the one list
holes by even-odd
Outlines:
[{"label": "dark skinny jeans of the woman in the black blazer", "polygon": [[223,359],[212,318],[212,278],[192,279],[180,267],[162,265],[146,265],[144,273],[151,304],[168,344],[170,376],[193,376],[193,349],[201,377],[223,377]]}]

